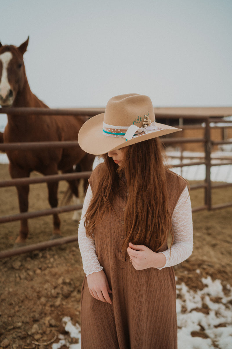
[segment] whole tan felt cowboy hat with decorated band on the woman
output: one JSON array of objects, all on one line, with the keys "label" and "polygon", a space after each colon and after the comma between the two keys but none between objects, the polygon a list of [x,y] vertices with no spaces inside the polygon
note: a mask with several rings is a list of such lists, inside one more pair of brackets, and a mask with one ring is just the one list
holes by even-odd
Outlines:
[{"label": "whole tan felt cowboy hat with decorated band on the woman", "polygon": [[86,121],[79,131],[78,143],[87,153],[101,155],[176,131],[181,129],[155,122],[149,97],[128,94],[112,97],[105,113]]}]

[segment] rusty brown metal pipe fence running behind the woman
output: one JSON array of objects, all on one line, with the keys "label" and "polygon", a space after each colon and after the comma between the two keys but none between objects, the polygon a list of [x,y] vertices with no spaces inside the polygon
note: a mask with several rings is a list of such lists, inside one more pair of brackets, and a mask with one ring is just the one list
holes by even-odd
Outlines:
[{"label": "rusty brown metal pipe fence running behind the woman", "polygon": [[[154,108],[155,110],[156,108]],[[162,108],[161,108],[162,109]],[[212,118],[211,115],[215,115],[216,117],[219,116],[225,116],[225,115],[231,115],[232,114],[232,108],[224,108],[224,114],[220,114],[219,110],[215,113],[213,111],[208,116],[205,114],[194,114],[193,112],[191,115],[178,115],[176,113],[168,113],[167,111],[161,111],[161,109],[155,110],[156,117],[159,119],[179,119],[179,125],[184,128],[204,128],[205,134],[203,138],[179,138],[179,137],[163,137],[161,140],[163,143],[168,146],[170,144],[181,144],[184,143],[203,143],[205,147],[205,157],[201,158],[204,159],[203,161],[194,161],[189,163],[183,163],[184,157],[181,157],[181,161],[179,164],[173,165],[172,167],[184,167],[184,166],[194,166],[194,165],[206,165],[206,176],[205,181],[203,184],[198,185],[191,185],[191,190],[196,190],[199,188],[203,188],[205,191],[205,198],[204,198],[204,205],[200,207],[194,207],[192,209],[193,212],[199,211],[202,209],[208,209],[208,210],[214,210],[218,208],[224,208],[224,207],[230,207],[232,206],[232,202],[224,203],[221,205],[212,205],[211,204],[211,190],[213,188],[221,188],[225,186],[232,186],[230,183],[222,183],[222,184],[216,184],[212,185],[211,179],[210,179],[210,168],[211,166],[216,165],[222,165],[224,163],[217,163],[212,164],[211,163],[211,148],[213,145],[218,144],[232,144],[229,140],[223,140],[223,141],[213,141],[210,138],[210,123],[214,122],[227,122],[228,124],[231,121],[228,120],[222,120],[222,118]],[[164,108],[165,109],[165,108]],[[8,113],[8,114],[15,114],[18,116],[23,117],[23,115],[28,114],[46,114],[46,115],[88,115],[89,117],[94,116],[98,113],[104,112],[104,108],[82,108],[82,109],[47,109],[47,108],[0,108],[0,113]],[[230,113],[231,112],[231,113]],[[191,119],[191,120],[197,120],[198,122],[204,122],[205,126],[192,126],[183,125],[184,119]],[[22,142],[22,143],[0,143],[0,150],[1,151],[7,151],[9,149],[45,149],[45,148],[65,148],[65,147],[77,147],[78,142],[77,141],[66,141],[66,142]],[[232,159],[226,158],[227,162],[226,164],[232,164]],[[44,183],[44,182],[50,182],[50,181],[59,181],[59,180],[67,180],[67,179],[78,179],[78,178],[88,178],[90,176],[91,172],[79,172],[79,173],[69,173],[69,174],[57,174],[53,176],[43,176],[38,178],[18,178],[18,179],[11,179],[11,180],[5,180],[0,181],[0,188],[1,187],[8,187],[8,186],[16,186],[16,185],[26,185],[26,184],[35,184],[35,183]],[[82,205],[70,205],[70,206],[63,206],[59,208],[53,208],[53,209],[47,209],[42,211],[35,211],[30,213],[21,213],[16,215],[8,215],[4,217],[0,217],[0,223],[5,222],[12,222],[16,220],[20,220],[22,218],[33,218],[33,217],[39,217],[39,216],[45,216],[45,215],[51,215],[54,213],[61,213],[61,212],[67,212],[72,211],[76,209],[82,208]],[[20,248],[17,250],[9,250],[9,251],[3,251],[0,252],[0,258],[10,257],[11,255],[15,255],[18,253],[25,253],[28,251],[33,250],[40,250],[46,247],[56,246],[63,243],[68,243],[75,241],[77,239],[77,236],[67,237],[67,238],[61,238],[56,239],[49,242],[43,242],[31,246],[27,246],[25,248]]]}]

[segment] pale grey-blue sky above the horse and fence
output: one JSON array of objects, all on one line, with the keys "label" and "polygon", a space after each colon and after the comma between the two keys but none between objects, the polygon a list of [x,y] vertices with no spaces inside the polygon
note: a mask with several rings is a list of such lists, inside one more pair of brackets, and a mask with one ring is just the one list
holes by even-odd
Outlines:
[{"label": "pale grey-blue sky above the horse and fence", "polygon": [[231,0],[8,0],[0,11],[3,45],[30,36],[27,78],[50,107],[104,107],[124,93],[232,106]]}]

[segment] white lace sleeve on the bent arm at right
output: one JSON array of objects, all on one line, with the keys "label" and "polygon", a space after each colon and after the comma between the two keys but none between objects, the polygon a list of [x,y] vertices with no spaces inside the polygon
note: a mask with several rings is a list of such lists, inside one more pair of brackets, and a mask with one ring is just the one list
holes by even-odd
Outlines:
[{"label": "white lace sleeve on the bent arm at right", "polygon": [[[193,250],[192,209],[187,187],[183,190],[173,212],[171,224],[174,232],[173,245],[163,253],[166,264],[163,268],[171,267],[187,259]],[[162,268],[158,268],[162,269]]]}]

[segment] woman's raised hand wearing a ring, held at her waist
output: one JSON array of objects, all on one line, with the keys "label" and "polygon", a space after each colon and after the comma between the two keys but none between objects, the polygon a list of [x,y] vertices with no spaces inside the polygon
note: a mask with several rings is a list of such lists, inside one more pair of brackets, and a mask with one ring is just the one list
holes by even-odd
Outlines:
[{"label": "woman's raised hand wearing a ring, held at her waist", "polygon": [[147,268],[162,268],[166,264],[166,257],[163,253],[153,252],[144,245],[133,245],[129,243],[127,252],[130,261],[136,270]]}]

